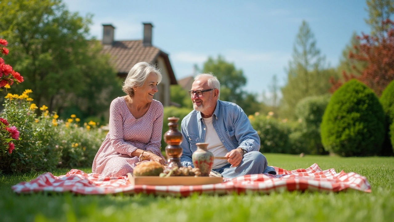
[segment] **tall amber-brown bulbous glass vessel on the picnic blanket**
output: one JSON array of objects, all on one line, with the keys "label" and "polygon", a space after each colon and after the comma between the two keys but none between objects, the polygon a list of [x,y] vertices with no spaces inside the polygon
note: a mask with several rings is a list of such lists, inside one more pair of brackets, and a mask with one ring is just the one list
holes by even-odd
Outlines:
[{"label": "tall amber-brown bulbous glass vessel on the picnic blanket", "polygon": [[169,130],[164,134],[164,141],[167,143],[165,147],[165,153],[168,156],[168,168],[172,169],[175,166],[181,167],[180,156],[182,156],[182,133],[178,131],[178,117],[169,117],[168,126]]}]

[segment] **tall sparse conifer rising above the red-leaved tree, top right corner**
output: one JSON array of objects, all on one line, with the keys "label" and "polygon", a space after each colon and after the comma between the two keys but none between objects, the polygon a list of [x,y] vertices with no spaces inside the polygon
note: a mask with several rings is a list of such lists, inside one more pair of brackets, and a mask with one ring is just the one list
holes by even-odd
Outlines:
[{"label": "tall sparse conifer rising above the red-leaved tree, top right corner", "polygon": [[367,0],[366,11],[368,11],[368,19],[365,22],[371,27],[372,36],[382,36],[388,31],[390,26],[384,22],[391,19],[394,14],[393,0]]}]

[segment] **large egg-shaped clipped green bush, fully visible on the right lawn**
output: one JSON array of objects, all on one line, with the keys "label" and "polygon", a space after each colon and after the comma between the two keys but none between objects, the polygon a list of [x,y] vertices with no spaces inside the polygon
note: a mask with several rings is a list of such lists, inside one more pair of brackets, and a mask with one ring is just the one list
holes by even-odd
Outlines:
[{"label": "large egg-shaped clipped green bush, fully visible on the right lawn", "polygon": [[331,97],[321,124],[324,148],[341,156],[370,156],[385,135],[382,105],[372,89],[353,79]]}]

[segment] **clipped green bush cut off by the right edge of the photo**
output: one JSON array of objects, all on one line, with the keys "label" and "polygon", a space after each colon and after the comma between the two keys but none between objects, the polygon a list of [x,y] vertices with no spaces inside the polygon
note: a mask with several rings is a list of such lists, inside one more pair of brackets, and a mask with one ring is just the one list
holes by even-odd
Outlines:
[{"label": "clipped green bush cut off by the right edge of the photo", "polygon": [[386,135],[381,154],[392,155],[394,151],[394,144],[390,142],[389,127],[394,122],[394,81],[391,81],[385,90],[383,90],[379,101],[382,104],[386,117]]}]

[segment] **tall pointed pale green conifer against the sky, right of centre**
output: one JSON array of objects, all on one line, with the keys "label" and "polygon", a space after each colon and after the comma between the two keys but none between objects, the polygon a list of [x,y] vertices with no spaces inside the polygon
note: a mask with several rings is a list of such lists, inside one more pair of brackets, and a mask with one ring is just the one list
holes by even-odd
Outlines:
[{"label": "tall pointed pale green conifer against the sky, right of centre", "polygon": [[335,70],[325,68],[325,57],[316,47],[314,34],[309,24],[302,22],[294,43],[292,60],[287,71],[287,83],[282,91],[282,115],[295,118],[294,109],[302,98],[328,92],[329,78]]}]

